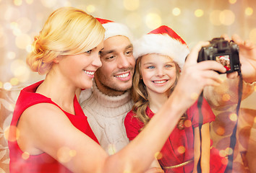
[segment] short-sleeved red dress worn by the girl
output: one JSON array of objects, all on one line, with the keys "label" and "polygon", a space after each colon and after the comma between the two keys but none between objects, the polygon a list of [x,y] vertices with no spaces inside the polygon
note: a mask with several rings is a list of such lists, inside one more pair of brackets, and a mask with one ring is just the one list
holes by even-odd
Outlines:
[{"label": "short-sleeved red dress worn by the girl", "polygon": [[[203,115],[203,123],[209,123],[215,120],[215,115],[213,114],[208,102],[203,99],[202,102],[202,115]],[[153,117],[154,113],[148,107],[146,110],[148,117]],[[175,127],[171,132],[168,140],[164,144],[161,154],[162,158],[159,159],[159,164],[163,167],[165,172],[192,172],[194,168],[194,162],[190,162],[183,167],[178,167],[175,169],[165,169],[164,167],[170,167],[177,164],[182,164],[184,161],[189,161],[194,158],[194,132],[193,129],[198,127],[198,109],[197,102],[195,102],[192,107],[189,107],[187,110],[187,120],[184,123],[184,129],[179,130],[179,128]],[[130,141],[134,139],[138,133],[140,128],[142,128],[143,124],[134,117],[135,113],[128,112],[127,117],[124,120],[124,125],[127,130],[127,137]]]}]

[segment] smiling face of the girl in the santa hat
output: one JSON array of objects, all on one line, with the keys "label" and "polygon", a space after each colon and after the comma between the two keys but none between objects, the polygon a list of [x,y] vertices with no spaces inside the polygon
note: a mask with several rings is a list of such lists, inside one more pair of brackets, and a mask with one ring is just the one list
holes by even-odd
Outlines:
[{"label": "smiling face of the girl in the santa hat", "polygon": [[168,94],[176,80],[176,66],[168,56],[151,53],[142,56],[140,69],[148,94]]}]

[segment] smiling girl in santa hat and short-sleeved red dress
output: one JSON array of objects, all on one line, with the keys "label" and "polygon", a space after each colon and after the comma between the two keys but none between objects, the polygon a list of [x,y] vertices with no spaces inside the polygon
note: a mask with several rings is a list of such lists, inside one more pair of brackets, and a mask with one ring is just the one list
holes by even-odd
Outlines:
[{"label": "smiling girl in santa hat and short-sleeved red dress", "polygon": [[[135,105],[124,120],[130,141],[148,125],[150,119],[174,92],[188,53],[184,40],[166,26],[158,27],[135,43],[134,56],[137,62],[132,89]],[[191,97],[197,99],[197,95],[192,94]],[[195,102],[182,115],[168,137],[161,154],[158,155],[165,172],[197,172],[200,157],[198,114]],[[205,99],[202,101],[202,115],[202,172],[220,172],[225,169],[220,156],[216,156],[216,164],[210,163],[209,123],[215,119],[215,115]]]}]

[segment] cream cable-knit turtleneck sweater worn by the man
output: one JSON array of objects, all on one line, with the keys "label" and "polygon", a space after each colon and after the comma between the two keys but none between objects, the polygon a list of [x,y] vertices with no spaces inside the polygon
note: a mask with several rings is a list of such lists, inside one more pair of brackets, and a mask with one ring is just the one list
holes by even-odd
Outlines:
[{"label": "cream cable-knit turtleneck sweater worn by the man", "polygon": [[124,117],[133,105],[129,92],[110,97],[100,92],[93,81],[93,89],[81,92],[80,105],[93,133],[108,154],[114,154],[129,143],[124,127]]}]

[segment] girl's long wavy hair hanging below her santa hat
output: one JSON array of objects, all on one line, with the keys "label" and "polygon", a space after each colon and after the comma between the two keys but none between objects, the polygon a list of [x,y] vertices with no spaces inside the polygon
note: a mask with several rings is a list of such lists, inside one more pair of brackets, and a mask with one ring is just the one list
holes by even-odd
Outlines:
[{"label": "girl's long wavy hair hanging below her santa hat", "polygon": [[[149,102],[148,102],[147,87],[145,86],[142,80],[142,74],[141,74],[140,62],[142,57],[143,56],[140,56],[139,58],[137,58],[137,61],[135,64],[135,74],[132,79],[132,99],[135,102],[135,104],[132,107],[132,111],[135,112],[135,117],[137,117],[144,124],[143,128],[145,128],[145,125],[147,125],[148,122],[150,121],[150,117],[148,117],[146,113],[146,109],[149,105]],[[168,90],[168,97],[171,95],[171,92],[174,91],[174,88],[180,76],[180,67],[176,62],[175,62],[175,66],[176,66],[176,79],[174,81],[174,84]],[[184,120],[185,116],[186,115],[182,116],[181,120]],[[180,123],[178,123],[178,125],[179,124]]]}]

